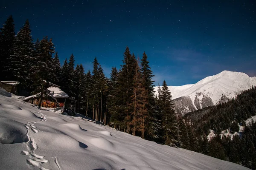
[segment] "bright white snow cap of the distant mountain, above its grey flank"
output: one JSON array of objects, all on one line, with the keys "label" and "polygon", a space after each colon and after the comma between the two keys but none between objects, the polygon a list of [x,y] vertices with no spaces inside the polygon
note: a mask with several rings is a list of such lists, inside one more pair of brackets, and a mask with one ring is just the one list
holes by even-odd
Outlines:
[{"label": "bright white snow cap of the distant mountain, above its grey flank", "polygon": [[[189,96],[193,103],[195,97],[201,92],[212,99],[214,105],[218,104],[222,95],[231,99],[243,91],[256,85],[256,77],[249,77],[245,73],[234,71],[222,71],[214,76],[206,77],[191,85],[168,86],[172,99]],[[154,87],[157,95],[157,87]]]}]

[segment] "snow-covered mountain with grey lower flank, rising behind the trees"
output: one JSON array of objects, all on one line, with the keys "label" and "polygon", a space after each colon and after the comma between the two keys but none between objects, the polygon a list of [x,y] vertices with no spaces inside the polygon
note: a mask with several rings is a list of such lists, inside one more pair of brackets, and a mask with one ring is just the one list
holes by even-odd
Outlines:
[{"label": "snow-covered mountain with grey lower flank, rising behind the trees", "polygon": [[[256,77],[245,73],[222,71],[192,85],[169,86],[177,113],[185,114],[236,97],[256,85]],[[154,89],[157,95],[157,87]]]}]

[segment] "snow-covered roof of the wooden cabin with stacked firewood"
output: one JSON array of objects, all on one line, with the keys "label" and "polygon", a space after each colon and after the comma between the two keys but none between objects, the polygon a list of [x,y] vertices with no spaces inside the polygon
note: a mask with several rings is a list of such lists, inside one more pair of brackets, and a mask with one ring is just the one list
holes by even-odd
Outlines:
[{"label": "snow-covered roof of the wooden cabin with stacked firewood", "polygon": [[[49,91],[51,91],[51,93],[48,94],[48,96],[52,96],[55,99],[58,99],[58,98],[64,98],[64,99],[65,98],[69,98],[69,96],[64,91],[62,91],[60,88],[58,88],[58,87],[51,86],[51,87],[49,87],[47,89]],[[40,93],[34,94],[32,96],[26,97],[24,100],[28,100],[28,99],[31,99],[31,98],[34,98],[34,97],[39,97],[39,96],[40,96]],[[44,95],[44,97],[46,97],[46,95]]]}]

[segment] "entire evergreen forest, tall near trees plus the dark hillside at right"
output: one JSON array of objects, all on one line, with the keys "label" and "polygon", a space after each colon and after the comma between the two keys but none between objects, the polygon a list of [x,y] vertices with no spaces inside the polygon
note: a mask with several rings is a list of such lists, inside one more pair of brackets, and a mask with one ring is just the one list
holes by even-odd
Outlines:
[{"label": "entire evergreen forest, tall near trees plus the dark hillside at right", "polygon": [[[19,95],[46,94],[53,83],[78,101],[78,113],[116,130],[255,169],[256,125],[244,124],[256,114],[255,88],[226,104],[178,117],[166,81],[154,96],[154,75],[145,52],[139,60],[126,47],[121,68],[113,67],[109,78],[96,57],[92,72],[85,73],[83,65],[75,66],[73,54],[61,65],[47,36],[33,42],[28,20],[15,34],[12,16],[0,28],[0,63],[0,80],[19,81]],[[232,125],[236,131],[240,122],[244,125],[241,136],[220,139],[221,130]],[[217,135],[207,141],[209,129]]]}]

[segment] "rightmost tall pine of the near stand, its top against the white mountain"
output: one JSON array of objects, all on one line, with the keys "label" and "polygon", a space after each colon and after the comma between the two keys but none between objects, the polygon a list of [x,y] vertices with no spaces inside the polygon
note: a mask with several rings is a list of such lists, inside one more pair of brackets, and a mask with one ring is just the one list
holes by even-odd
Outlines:
[{"label": "rightmost tall pine of the near stand, its top against the white mountain", "polygon": [[175,115],[174,106],[172,103],[172,95],[169,92],[166,81],[163,81],[160,90],[159,99],[161,101],[162,110],[162,126],[164,143],[169,146],[177,147],[179,143],[179,128],[177,117]]}]

